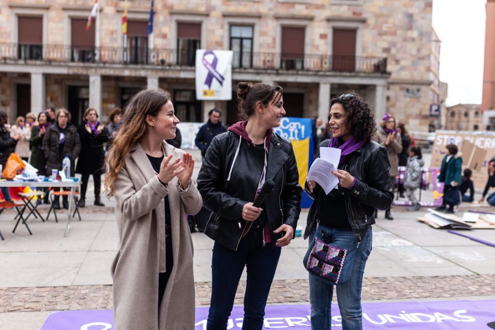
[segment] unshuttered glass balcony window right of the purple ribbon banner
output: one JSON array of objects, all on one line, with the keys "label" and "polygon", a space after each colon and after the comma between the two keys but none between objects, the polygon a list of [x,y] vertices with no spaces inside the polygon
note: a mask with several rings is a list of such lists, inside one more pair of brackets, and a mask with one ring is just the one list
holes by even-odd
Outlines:
[{"label": "unshuttered glass balcony window right of the purple ribbon banner", "polygon": [[250,68],[252,63],[252,26],[230,27],[230,50],[234,52],[232,66]]}]

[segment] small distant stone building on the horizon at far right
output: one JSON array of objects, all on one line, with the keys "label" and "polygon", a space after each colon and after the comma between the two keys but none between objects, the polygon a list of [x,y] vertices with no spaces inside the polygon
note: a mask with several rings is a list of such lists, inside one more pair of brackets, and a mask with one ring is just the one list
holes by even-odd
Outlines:
[{"label": "small distant stone building on the horizon at far right", "polygon": [[447,107],[446,130],[484,131],[480,104],[456,104]]}]

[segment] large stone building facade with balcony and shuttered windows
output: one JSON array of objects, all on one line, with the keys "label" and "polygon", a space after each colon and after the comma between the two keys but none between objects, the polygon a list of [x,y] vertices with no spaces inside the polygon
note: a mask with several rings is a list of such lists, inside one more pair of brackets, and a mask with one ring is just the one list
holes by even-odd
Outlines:
[{"label": "large stone building facade with balcony and shuttered windows", "polygon": [[[236,101],[198,101],[197,48],[232,49],[240,81],[277,82],[288,115],[326,118],[332,96],[355,91],[374,107],[427,131],[438,94],[432,63],[433,0],[123,0],[0,3],[0,109],[11,118],[67,107],[73,121],[95,107],[102,121],[142,88],[167,89],[182,121],[204,121],[212,107],[236,120]],[[99,31],[99,33],[98,33]],[[438,60],[438,58],[437,58]],[[433,75],[432,75],[433,73]]]}]

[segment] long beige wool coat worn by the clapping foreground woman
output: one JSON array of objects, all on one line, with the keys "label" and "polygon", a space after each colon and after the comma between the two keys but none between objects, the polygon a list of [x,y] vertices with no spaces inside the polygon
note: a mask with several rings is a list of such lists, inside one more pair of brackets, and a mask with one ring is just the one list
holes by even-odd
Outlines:
[{"label": "long beige wool coat worn by the clapping foreground woman", "polygon": [[[165,157],[184,151],[163,141]],[[181,191],[177,178],[161,184],[137,143],[114,183],[119,249],[111,265],[113,317],[118,330],[191,330],[195,320],[193,241],[186,220],[202,199],[196,180]],[[168,195],[174,266],[158,311],[158,273],[165,269],[165,202]]]}]

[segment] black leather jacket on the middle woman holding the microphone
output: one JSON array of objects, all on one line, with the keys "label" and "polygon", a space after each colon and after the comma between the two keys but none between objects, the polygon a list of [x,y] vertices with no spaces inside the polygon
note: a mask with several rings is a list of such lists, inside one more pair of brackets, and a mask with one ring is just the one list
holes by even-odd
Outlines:
[{"label": "black leather jacket on the middle woman holding the microphone", "polygon": [[[232,250],[237,250],[243,232],[250,228],[251,223],[242,219],[243,206],[254,200],[262,172],[262,168],[247,167],[247,148],[251,147],[230,131],[216,136],[198,174],[203,206],[212,212],[204,233]],[[236,172],[232,177],[237,179],[227,181],[231,169]],[[291,225],[296,231],[302,192],[292,144],[275,133],[268,148],[266,180],[269,179],[275,182],[275,188],[265,199],[264,210],[275,242],[284,235],[273,233],[282,224]]]}]

